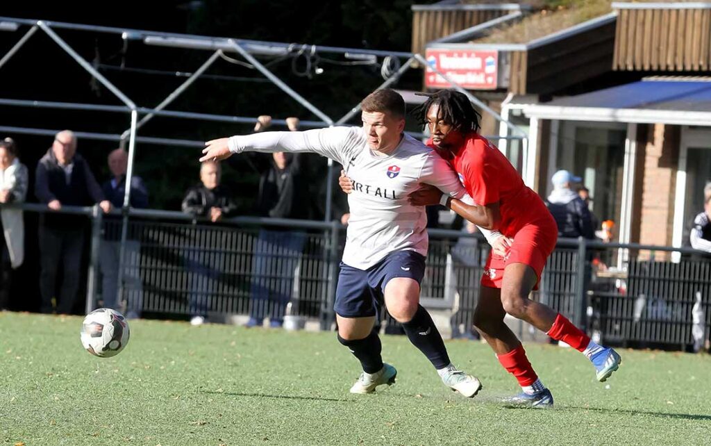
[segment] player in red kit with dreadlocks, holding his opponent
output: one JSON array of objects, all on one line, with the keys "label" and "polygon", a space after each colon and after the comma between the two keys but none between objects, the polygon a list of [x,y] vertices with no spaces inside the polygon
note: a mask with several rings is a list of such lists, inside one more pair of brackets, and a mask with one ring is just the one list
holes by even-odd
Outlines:
[{"label": "player in red kit with dreadlocks, holding his opponent", "polygon": [[[501,365],[518,379],[522,392],[508,402],[542,408],[552,406],[553,398],[520,341],[504,324],[506,313],[580,351],[594,364],[597,380],[605,381],[619,367],[619,354],[591,341],[562,314],[528,298],[538,288],[557,240],[557,225],[545,203],[523,184],[506,156],[479,135],[480,116],[466,95],[439,90],[416,113],[429,127],[428,145],[449,161],[476,205],[466,205],[429,186],[413,193],[411,202],[417,206],[442,203],[476,225],[498,229],[503,237],[493,242],[495,249],[486,262],[474,326]],[[504,255],[496,249],[502,245]]]}]

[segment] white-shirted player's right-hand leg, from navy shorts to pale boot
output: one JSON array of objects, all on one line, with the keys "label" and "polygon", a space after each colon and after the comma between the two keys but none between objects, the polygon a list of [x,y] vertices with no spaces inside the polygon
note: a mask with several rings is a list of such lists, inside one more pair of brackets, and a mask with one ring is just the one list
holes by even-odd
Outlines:
[{"label": "white-shirted player's right-hand leg, from navy shorts to pale boot", "polygon": [[423,275],[424,257],[403,251],[388,256],[373,277],[383,287],[387,311],[402,324],[410,342],[427,356],[442,382],[471,398],[479,392],[481,383],[449,361],[442,335],[427,310],[419,304],[419,283]]}]

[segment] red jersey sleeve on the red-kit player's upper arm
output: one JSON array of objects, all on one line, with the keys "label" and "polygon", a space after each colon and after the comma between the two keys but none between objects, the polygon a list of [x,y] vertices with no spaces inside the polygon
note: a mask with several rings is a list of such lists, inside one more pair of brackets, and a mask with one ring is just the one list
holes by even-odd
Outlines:
[{"label": "red jersey sleeve on the red-kit player's upper arm", "polygon": [[[476,203],[486,206],[497,203],[499,196],[499,169],[493,157],[486,156],[486,147],[477,141],[472,151],[462,163],[461,172],[466,178],[467,191]],[[480,146],[480,144],[482,144]]]}]

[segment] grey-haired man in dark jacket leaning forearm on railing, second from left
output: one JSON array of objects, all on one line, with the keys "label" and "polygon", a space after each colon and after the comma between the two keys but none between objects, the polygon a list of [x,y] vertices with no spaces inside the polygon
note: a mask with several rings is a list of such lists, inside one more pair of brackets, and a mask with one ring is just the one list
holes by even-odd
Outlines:
[{"label": "grey-haired man in dark jacket leaning forearm on railing, second from left", "polygon": [[63,280],[57,299],[57,312],[69,314],[77,299],[80,262],[84,248],[84,216],[57,213],[62,206],[91,206],[99,203],[102,211],[111,211],[89,164],[76,153],[77,138],[70,130],[55,135],[52,147],[37,163],[35,194],[50,211],[40,219],[41,312],[50,313],[60,266]]}]

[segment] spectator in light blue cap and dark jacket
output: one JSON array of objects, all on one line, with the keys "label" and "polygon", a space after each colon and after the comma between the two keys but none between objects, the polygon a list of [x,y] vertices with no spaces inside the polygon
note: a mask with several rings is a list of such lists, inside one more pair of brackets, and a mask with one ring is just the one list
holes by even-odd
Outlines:
[{"label": "spectator in light blue cap and dark jacket", "polygon": [[546,205],[558,225],[558,237],[594,238],[590,211],[579,195],[570,189],[572,183],[580,181],[567,170],[559,170],[551,179],[553,191]]}]

